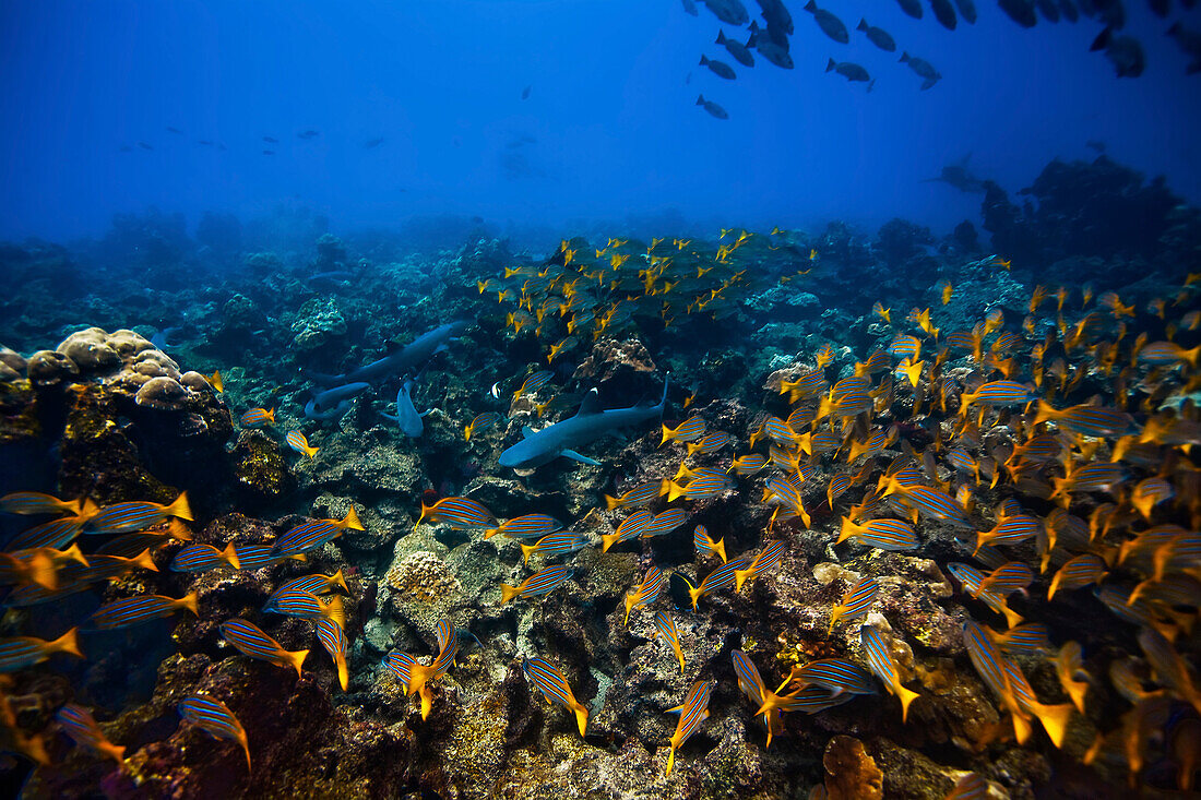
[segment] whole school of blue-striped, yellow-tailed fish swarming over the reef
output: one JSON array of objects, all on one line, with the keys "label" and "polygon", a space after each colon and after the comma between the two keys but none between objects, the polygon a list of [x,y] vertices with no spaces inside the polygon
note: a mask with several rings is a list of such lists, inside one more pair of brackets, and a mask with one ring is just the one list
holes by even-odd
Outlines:
[{"label": "whole school of blue-striped, yellow-tailed fish swarming over the reef", "polygon": [[[731,316],[753,282],[748,264],[779,247],[777,233],[722,231],[716,250],[681,239],[655,239],[650,245],[610,239],[604,249],[588,251],[581,240],[564,241],[546,264],[507,269],[478,288],[508,304],[507,328],[514,335],[532,333],[544,345],[546,363],[554,364],[586,350],[590,340],[646,322],[712,323]],[[803,255],[809,262],[819,258],[817,252]],[[986,263],[1009,268],[997,257]],[[1194,308],[1199,279],[1189,275],[1176,295],[1146,309],[1124,304],[1113,292],[1094,297],[1087,288],[1038,286],[1024,318],[1006,320],[993,308],[964,330],[940,329],[937,306],[902,315],[880,302],[872,314],[890,327],[891,344],[866,353],[853,368],[838,364],[827,345],[812,354],[811,364],[776,374],[771,388],[781,402],[787,398],[789,413],[760,413],[741,437],[709,430],[700,414],[674,426],[664,424],[656,431],[658,441],[646,447],[682,444],[679,470],[647,476],[620,496],[597,498],[594,512],[567,526],[582,529],[587,523],[587,531],[564,530],[536,509],[501,521],[467,497],[423,503],[419,523],[478,530],[483,538],[504,533],[522,542],[528,563],[531,556],[569,557],[592,547],[588,533],[602,533],[597,526],[604,529],[604,551],[635,539],[653,544],[655,537],[686,535],[681,531],[687,530],[692,503],[739,492],[746,503],[761,508],[760,545],[728,554],[722,538],[694,527],[695,579],[677,575],[687,581],[695,613],[706,596],[741,591],[748,580],[770,580],[790,539],[815,518],[832,523],[825,526],[831,529],[825,531],[831,545],[850,539],[856,548],[918,553],[933,538],[944,545],[952,542],[960,559],[940,566],[980,620],[963,626],[967,659],[1008,716],[990,738],[1011,734],[1022,744],[1040,728],[1060,747],[1074,726],[1087,718],[1097,734],[1080,754],[1086,764],[1124,764],[1136,786],[1148,764],[1170,763],[1177,787],[1191,790],[1201,759],[1201,683],[1190,663],[1201,608],[1201,535],[1196,533],[1201,472],[1191,450],[1201,443],[1194,402],[1201,389],[1201,346],[1185,350],[1176,340],[1201,327],[1201,312]],[[937,293],[945,305],[954,287],[944,281]],[[1128,334],[1131,328],[1140,333]],[[1158,335],[1148,333],[1153,330]],[[844,377],[831,382],[839,369]],[[558,410],[566,404],[555,402],[551,380],[551,374],[534,371],[514,398],[545,398],[536,402],[539,414]],[[685,405],[703,407],[691,395]],[[465,440],[483,436],[502,419],[485,412],[464,420]],[[264,422],[273,423],[273,414],[245,419],[246,425]],[[310,459],[316,453],[306,449],[303,436],[294,447]],[[652,503],[657,513],[647,508]],[[28,547],[0,554],[0,575],[14,595],[72,591],[133,569],[156,569],[153,556],[161,548],[178,547],[181,539],[186,544],[189,538],[180,523],[191,519],[186,496],[171,505],[100,508],[86,498],[16,492],[0,498],[0,505],[10,513],[52,518],[19,537]],[[608,527],[611,523],[616,530]],[[355,526],[360,527],[352,508],[343,520],[297,527],[275,548],[259,548],[265,551],[190,545],[174,554],[172,569],[245,569],[303,560],[306,551]],[[79,533],[116,538],[84,554],[76,542]],[[777,676],[775,691],[769,686],[777,680],[765,681],[772,664],[755,664],[741,650],[734,651],[729,667],[692,664],[689,674],[674,619],[680,609],[670,608],[663,591],[667,572],[652,567],[631,587],[626,621],[639,609],[653,614],[658,635],[669,644],[681,673],[693,680],[681,704],[670,710],[679,714],[679,724],[664,756],[668,774],[677,751],[709,716],[709,698],[718,682],[736,682],[761,718],[765,746],[785,732],[787,715],[818,714],[858,695],[878,694],[878,686],[898,699],[903,721],[912,716],[915,700],[919,711],[925,703],[937,709],[937,691],[914,686],[914,670],[900,656],[910,650],[909,643],[897,641],[900,634],[888,621],[872,614],[880,589],[874,580],[879,575],[867,574],[872,566],[870,559],[856,562],[865,574],[848,584],[830,609],[829,628],[823,632],[819,626],[814,633],[830,635],[835,650],[844,655],[793,667]],[[498,602],[545,596],[572,574],[568,565],[545,566],[519,586],[497,586]],[[345,689],[345,614],[340,601],[327,602],[323,596],[339,585],[345,590],[346,584],[340,574],[301,580],[310,583],[279,587],[268,610],[315,622],[315,634],[333,657]],[[1032,598],[1045,592],[1046,603],[1062,603],[1082,589],[1089,589],[1112,615],[1119,631],[1115,638],[1129,644],[1129,651],[1110,646],[1089,652],[1075,640],[1053,643],[1051,627],[1027,619],[1048,608]],[[1024,598],[1018,607],[1029,610],[1016,611],[1015,597]],[[181,609],[197,613],[195,595],[139,596],[102,607],[88,625],[120,627]],[[839,626],[855,634],[833,638]],[[301,671],[307,650],[286,651],[241,619],[225,621],[221,631],[243,653]],[[440,623],[437,639],[438,653],[429,665],[410,653],[392,653],[384,662],[406,693],[420,695],[423,717],[431,711],[431,682],[453,667],[459,649],[459,632],[449,620]],[[83,657],[74,629],[49,641],[4,639],[0,673],[34,668],[58,653]],[[1035,693],[1028,675],[1041,669],[1040,662],[1058,676],[1058,692],[1040,685],[1042,697]],[[574,711],[582,736],[587,710],[554,659],[531,653],[524,668],[548,702]],[[1092,705],[1100,702],[1099,693],[1110,695],[1106,681],[1122,704],[1112,718]],[[2,692],[0,700],[6,747],[44,764],[40,736],[22,733]],[[1112,715],[1113,700],[1106,704],[1106,715]],[[246,732],[220,702],[195,699],[181,704],[180,714],[213,735],[238,742],[249,765]],[[58,721],[79,745],[121,760],[123,748],[107,741],[85,709],[64,706]],[[986,739],[975,746],[987,744]],[[961,784],[948,796],[987,792],[979,776],[966,776]]]}]

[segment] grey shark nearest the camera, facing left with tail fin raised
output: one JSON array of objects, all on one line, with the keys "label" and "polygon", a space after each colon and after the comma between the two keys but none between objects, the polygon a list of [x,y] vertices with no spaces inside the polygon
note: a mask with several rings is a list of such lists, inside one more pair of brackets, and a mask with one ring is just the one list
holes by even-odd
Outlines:
[{"label": "grey shark nearest the camera, facing left with tail fin raised", "polygon": [[599,407],[600,400],[597,390],[592,389],[584,395],[580,410],[575,412],[574,417],[568,417],[539,431],[526,428],[525,438],[501,453],[498,464],[524,472],[549,464],[562,455],[596,466],[599,461],[580,455],[575,448],[605,434],[616,432],[620,428],[628,428],[647,419],[662,417],[667,401],[667,377],[663,380],[663,396],[656,406],[603,410]]}]

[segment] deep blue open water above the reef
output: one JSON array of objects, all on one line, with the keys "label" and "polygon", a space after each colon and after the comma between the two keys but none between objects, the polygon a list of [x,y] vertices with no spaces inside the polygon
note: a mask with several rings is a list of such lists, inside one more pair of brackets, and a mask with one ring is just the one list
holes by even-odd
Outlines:
[{"label": "deep blue open water above the reef", "polygon": [[[721,23],[679,0],[10,0],[0,237],[97,234],[151,204],[195,223],[281,202],[335,229],[452,211],[568,234],[573,220],[676,208],[706,223],[902,215],[945,231],[979,198],[921,178],[970,151],[1015,190],[1054,156],[1093,157],[1088,139],[1201,199],[1201,76],[1184,76],[1140,0],[1127,4],[1148,55],[1139,79],[1088,52],[1100,25],[1087,19],[1022,30],[978,0],[976,25],[952,32],[928,7],[914,20],[892,0],[827,0],[852,29],[843,46],[787,5],[796,68],[759,59],[724,82],[697,66],[701,53],[733,62],[712,43]],[[919,91],[854,30],[861,14],[943,82]],[[874,91],[825,73],[831,55],[866,66]],[[698,91],[730,120],[695,107]],[[309,127],[321,136],[298,139]]]}]

